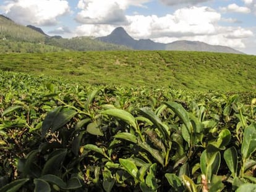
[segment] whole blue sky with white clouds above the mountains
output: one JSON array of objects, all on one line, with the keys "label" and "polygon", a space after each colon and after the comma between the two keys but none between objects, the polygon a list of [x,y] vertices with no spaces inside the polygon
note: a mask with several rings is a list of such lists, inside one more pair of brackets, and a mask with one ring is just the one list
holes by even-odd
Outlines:
[{"label": "whole blue sky with white clouds above the mountains", "polygon": [[48,35],[203,41],[256,55],[256,0],[1,0],[0,14]]}]

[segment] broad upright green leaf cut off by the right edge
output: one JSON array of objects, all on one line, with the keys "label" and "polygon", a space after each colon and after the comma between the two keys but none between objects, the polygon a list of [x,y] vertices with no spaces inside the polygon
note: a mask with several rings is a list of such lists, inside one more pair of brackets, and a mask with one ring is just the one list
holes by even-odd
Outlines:
[{"label": "broad upright green leaf cut off by the right edge", "polygon": [[248,159],[256,150],[256,124],[251,124],[245,128],[244,138],[242,140],[242,158]]}]

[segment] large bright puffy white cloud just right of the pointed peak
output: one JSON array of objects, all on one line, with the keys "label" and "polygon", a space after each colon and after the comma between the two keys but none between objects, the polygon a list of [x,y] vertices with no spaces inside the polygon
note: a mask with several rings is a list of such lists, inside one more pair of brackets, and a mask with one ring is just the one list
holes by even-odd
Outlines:
[{"label": "large bright puffy white cloud just right of the pointed peak", "polygon": [[215,23],[221,15],[209,7],[177,9],[173,15],[127,16],[127,30],[135,38],[181,37],[215,33]]}]

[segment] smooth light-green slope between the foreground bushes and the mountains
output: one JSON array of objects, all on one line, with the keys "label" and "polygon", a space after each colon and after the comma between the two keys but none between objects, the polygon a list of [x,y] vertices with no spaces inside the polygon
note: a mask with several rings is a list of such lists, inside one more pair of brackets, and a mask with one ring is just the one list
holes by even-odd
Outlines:
[{"label": "smooth light-green slope between the foreground bushes and the mountains", "polygon": [[0,69],[64,77],[83,85],[255,91],[256,57],[182,51],[1,54]]}]

